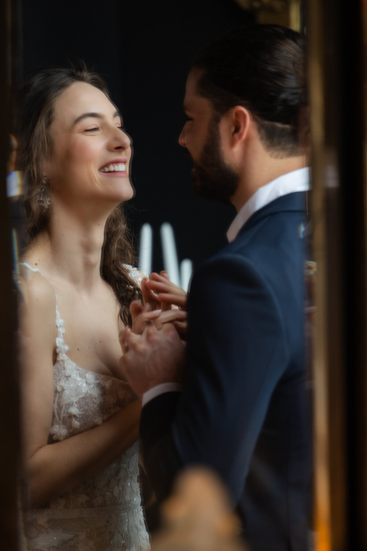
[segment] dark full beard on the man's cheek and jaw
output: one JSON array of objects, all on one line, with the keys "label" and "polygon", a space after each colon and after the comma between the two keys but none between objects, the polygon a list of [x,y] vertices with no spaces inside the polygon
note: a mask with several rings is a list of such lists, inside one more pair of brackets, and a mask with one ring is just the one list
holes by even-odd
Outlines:
[{"label": "dark full beard on the man's cheek and jaw", "polygon": [[209,123],[208,139],[191,171],[193,190],[200,197],[228,203],[238,188],[238,174],[228,166],[220,149],[218,121]]}]

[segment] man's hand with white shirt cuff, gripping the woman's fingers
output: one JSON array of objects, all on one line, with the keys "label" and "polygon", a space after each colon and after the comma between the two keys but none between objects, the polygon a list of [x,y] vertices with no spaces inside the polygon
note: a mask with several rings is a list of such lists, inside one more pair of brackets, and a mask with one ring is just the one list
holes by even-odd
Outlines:
[{"label": "man's hand with white shirt cuff, gripping the woman's fingers", "polygon": [[149,322],[141,335],[127,327],[119,338],[124,353],[120,368],[140,399],[144,392],[163,382],[183,381],[185,345],[172,323],[163,323],[157,329]]}]

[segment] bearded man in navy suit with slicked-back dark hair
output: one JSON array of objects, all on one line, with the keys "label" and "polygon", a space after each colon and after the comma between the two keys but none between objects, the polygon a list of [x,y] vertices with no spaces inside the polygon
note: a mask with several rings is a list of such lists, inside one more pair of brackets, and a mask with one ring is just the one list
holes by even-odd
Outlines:
[{"label": "bearded man in navy suit with slicked-back dark hair", "polygon": [[171,323],[121,335],[157,498],[180,469],[211,467],[253,551],[308,548],[305,71],[303,37],[278,25],[233,31],[196,57],[179,143],[195,191],[238,214],[194,274],[186,357]]}]

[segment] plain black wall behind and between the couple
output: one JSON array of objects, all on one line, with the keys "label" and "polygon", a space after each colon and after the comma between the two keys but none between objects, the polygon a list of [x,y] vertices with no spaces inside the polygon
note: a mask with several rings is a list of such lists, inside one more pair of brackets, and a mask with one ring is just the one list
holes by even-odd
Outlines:
[{"label": "plain black wall behind and between the couple", "polygon": [[154,269],[162,269],[159,229],[173,225],[179,260],[194,266],[226,243],[231,206],[205,201],[190,186],[191,161],[178,145],[190,63],[199,48],[254,21],[234,0],[21,0],[21,78],[84,60],[105,77],[134,141],[134,234],[154,229]]}]

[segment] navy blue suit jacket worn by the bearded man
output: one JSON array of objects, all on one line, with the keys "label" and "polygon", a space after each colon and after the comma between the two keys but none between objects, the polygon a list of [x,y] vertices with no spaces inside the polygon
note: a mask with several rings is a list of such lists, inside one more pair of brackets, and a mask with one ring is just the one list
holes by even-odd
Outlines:
[{"label": "navy blue suit jacket worn by the bearded man", "polygon": [[152,399],[141,415],[158,499],[183,467],[212,467],[253,551],[307,549],[305,196],[289,193],[258,210],[195,272],[183,392]]}]

